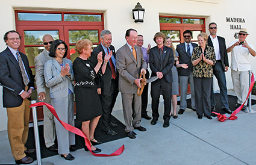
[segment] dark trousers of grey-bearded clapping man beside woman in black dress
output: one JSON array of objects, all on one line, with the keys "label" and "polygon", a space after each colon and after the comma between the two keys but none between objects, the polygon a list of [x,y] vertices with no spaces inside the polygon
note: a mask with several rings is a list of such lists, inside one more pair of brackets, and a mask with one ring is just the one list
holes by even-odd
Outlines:
[{"label": "dark trousers of grey-bearded clapping man beside woman in black dress", "polygon": [[103,111],[101,116],[101,121],[102,121],[102,129],[104,131],[108,131],[111,129],[110,122],[111,122],[111,113],[113,110],[111,105],[113,104],[113,99],[114,101],[116,101],[116,96],[117,96],[115,95],[115,98],[114,98],[113,94],[115,92],[115,89],[116,89],[116,82],[114,79],[112,79],[110,92],[104,93],[104,95],[99,95],[99,98],[101,99],[101,106]]}]

